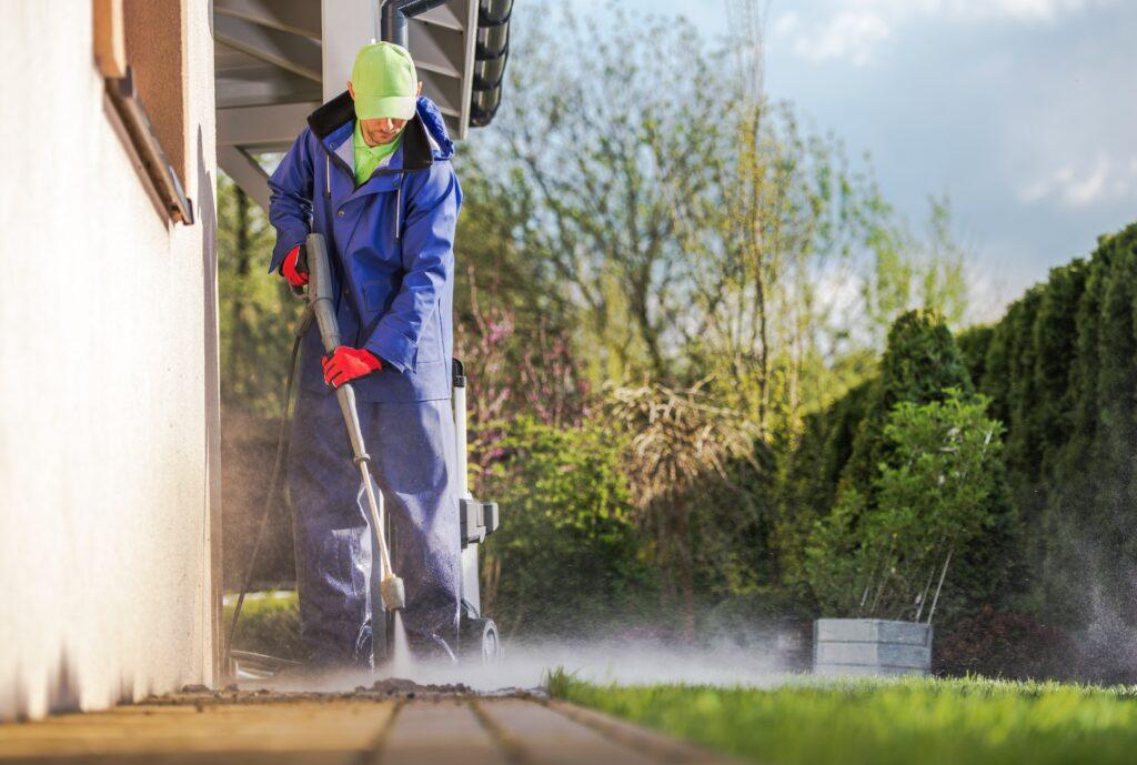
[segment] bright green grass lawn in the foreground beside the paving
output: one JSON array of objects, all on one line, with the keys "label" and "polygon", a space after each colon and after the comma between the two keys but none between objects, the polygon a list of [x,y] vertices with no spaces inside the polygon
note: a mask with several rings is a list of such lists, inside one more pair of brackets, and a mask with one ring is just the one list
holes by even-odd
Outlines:
[{"label": "bright green grass lawn in the foreground beside the paving", "polygon": [[549,693],[769,765],[1137,763],[1137,687],[799,681],[771,690],[594,685]]}]

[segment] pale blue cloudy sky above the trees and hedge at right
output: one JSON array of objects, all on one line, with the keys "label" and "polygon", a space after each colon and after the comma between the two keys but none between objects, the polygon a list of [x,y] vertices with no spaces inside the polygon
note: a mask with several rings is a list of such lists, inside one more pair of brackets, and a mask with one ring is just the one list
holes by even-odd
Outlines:
[{"label": "pale blue cloudy sky above the trees and hedge at right", "polygon": [[[769,94],[914,224],[951,198],[981,317],[1137,221],[1137,0],[760,2]],[[727,0],[622,5],[727,30]]]}]

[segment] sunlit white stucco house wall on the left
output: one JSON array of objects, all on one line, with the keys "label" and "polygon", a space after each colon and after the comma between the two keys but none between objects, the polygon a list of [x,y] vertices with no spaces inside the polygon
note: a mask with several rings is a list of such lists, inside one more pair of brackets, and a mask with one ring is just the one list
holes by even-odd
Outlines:
[{"label": "sunlit white stucco house wall on the left", "polygon": [[185,6],[192,226],[105,114],[91,0],[0,3],[0,720],[214,680],[213,41]]}]

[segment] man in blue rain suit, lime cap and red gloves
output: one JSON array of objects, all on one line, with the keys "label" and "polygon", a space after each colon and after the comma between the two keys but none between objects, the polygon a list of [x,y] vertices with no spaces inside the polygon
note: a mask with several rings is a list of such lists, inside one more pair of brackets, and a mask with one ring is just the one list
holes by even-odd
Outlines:
[{"label": "man in blue rain suit, lime cap and red gloves", "polygon": [[[410,55],[363,48],[348,91],[308,127],[268,181],[269,272],[307,283],[302,244],[327,240],[346,344],[323,357],[304,338],[289,457],[300,624],[315,665],[372,662],[372,538],[333,388],[355,388],[375,480],[393,524],[405,625],[420,655],[451,656],[458,629],[458,513],[449,407],[454,231],[462,191],[454,143],[420,98]],[[376,562],[377,567],[377,562]],[[373,612],[373,608],[375,609]]]}]

